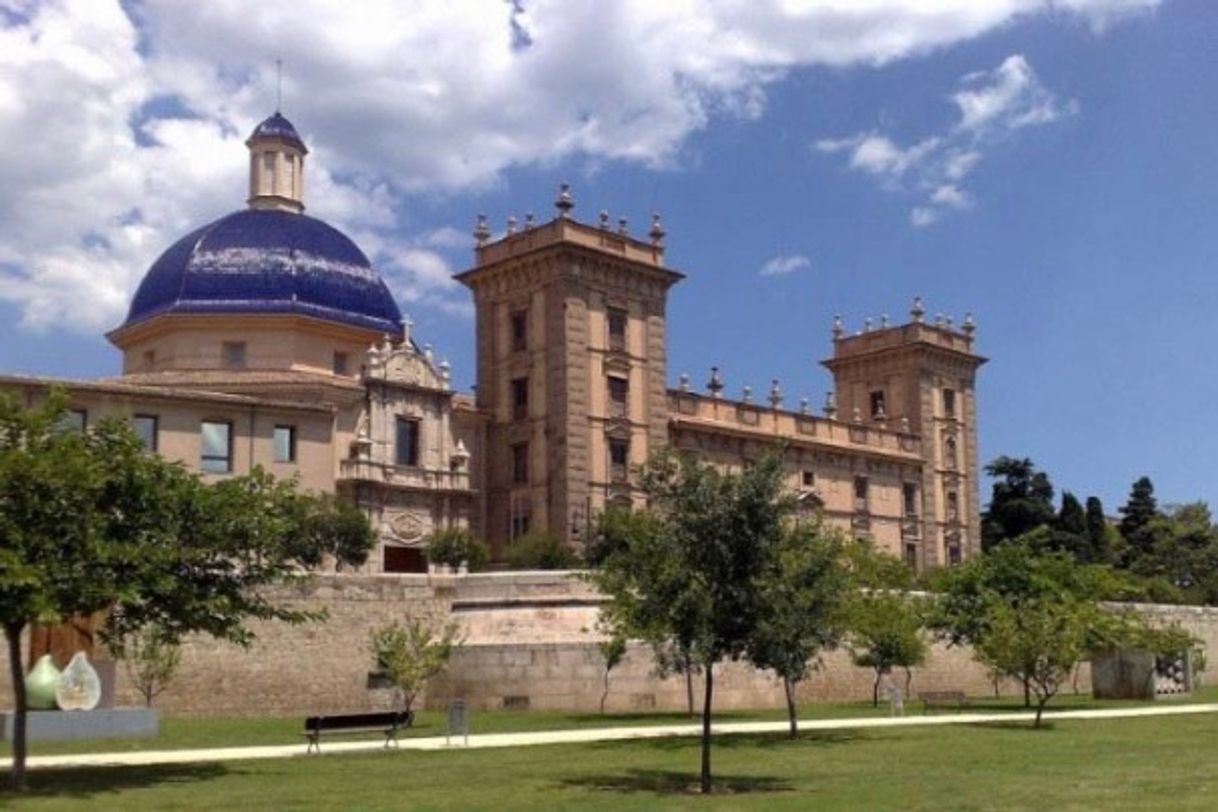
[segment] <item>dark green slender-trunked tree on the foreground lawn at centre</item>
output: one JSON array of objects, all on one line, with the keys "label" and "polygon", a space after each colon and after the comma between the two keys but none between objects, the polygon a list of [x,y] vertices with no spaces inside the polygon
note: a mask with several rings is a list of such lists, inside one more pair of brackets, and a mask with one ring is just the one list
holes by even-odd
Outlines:
[{"label": "dark green slender-trunked tree on the foreground lawn at centre", "polygon": [[654,521],[608,544],[592,573],[608,597],[604,616],[624,637],[688,643],[704,674],[703,793],[711,789],[710,727],[715,665],[742,656],[764,606],[784,519],[782,467],[767,455],[742,474],[660,453],[639,477]]}]

